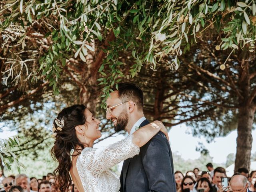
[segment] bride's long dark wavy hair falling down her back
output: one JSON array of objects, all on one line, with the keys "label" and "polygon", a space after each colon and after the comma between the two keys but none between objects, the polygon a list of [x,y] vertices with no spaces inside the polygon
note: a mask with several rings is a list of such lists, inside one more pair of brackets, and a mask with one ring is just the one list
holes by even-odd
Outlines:
[{"label": "bride's long dark wavy hair falling down her back", "polygon": [[[64,119],[64,126],[62,130],[55,130],[56,140],[52,147],[52,157],[58,160],[58,167],[54,170],[54,176],[58,181],[58,188],[60,191],[68,191],[68,187],[71,185],[71,177],[69,174],[72,166],[70,158],[70,150],[76,149],[80,146],[84,149],[84,144],[81,143],[76,136],[75,127],[83,125],[86,122],[86,116],[84,115],[84,105],[73,105],[71,107],[64,108],[57,116],[58,120]],[[54,119],[55,128],[58,125]],[[78,151],[78,150],[77,150]],[[78,151],[78,155],[82,150]]]}]

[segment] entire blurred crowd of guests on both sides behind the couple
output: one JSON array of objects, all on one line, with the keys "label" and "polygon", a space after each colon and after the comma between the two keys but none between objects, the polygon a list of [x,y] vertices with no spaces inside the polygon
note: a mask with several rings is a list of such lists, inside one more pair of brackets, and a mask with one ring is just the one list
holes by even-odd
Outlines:
[{"label": "entire blurred crowd of guests on both sides behind the couple", "polygon": [[[238,169],[232,177],[227,178],[222,167],[213,168],[212,163],[206,165],[207,171],[194,168],[183,174],[174,173],[177,192],[256,192],[256,170]],[[222,186],[222,178],[228,179],[228,186]],[[54,174],[48,173],[42,179],[29,178],[26,174],[4,177],[0,170],[0,192],[59,192]],[[79,192],[74,184],[68,192]]]}]

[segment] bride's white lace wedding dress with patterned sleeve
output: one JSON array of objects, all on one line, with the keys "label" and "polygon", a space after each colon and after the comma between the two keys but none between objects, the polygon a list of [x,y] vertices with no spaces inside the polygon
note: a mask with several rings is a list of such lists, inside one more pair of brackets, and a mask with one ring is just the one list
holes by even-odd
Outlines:
[{"label": "bride's white lace wedding dress with patterned sleeve", "polygon": [[76,162],[85,192],[118,192],[120,180],[109,168],[139,154],[132,135],[104,148],[85,148]]}]

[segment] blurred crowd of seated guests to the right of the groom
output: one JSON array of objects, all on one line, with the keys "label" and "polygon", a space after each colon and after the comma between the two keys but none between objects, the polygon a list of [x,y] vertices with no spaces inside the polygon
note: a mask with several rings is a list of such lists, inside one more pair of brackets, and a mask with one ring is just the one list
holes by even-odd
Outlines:
[{"label": "blurred crowd of seated guests to the right of the groom", "polygon": [[[232,177],[227,177],[222,167],[213,168],[212,163],[206,165],[207,171],[194,168],[183,174],[174,173],[177,192],[256,192],[256,170],[239,168]],[[224,179],[227,186],[223,186]]]}]

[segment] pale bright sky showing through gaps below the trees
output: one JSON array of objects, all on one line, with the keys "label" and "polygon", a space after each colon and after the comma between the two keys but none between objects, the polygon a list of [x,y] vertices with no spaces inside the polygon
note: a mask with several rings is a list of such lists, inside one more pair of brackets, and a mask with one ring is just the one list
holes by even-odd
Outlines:
[{"label": "pale bright sky showing through gaps below the trees", "polygon": [[[183,159],[197,159],[200,157],[200,152],[196,152],[196,146],[198,142],[202,142],[204,146],[209,150],[210,156],[213,157],[215,163],[225,163],[226,157],[230,153],[236,154],[236,138],[237,132],[232,131],[225,137],[215,138],[213,142],[208,144],[206,140],[201,137],[193,137],[190,133],[190,128],[186,124],[180,124],[172,127],[169,131],[170,144],[173,152],[178,152]],[[0,139],[5,139],[16,135],[16,132],[10,132],[4,130],[0,132]],[[123,139],[124,135],[118,135],[116,137],[108,138],[95,144],[94,147],[106,146]],[[256,152],[256,130],[252,131],[252,153]]]}]

